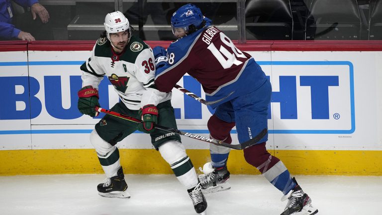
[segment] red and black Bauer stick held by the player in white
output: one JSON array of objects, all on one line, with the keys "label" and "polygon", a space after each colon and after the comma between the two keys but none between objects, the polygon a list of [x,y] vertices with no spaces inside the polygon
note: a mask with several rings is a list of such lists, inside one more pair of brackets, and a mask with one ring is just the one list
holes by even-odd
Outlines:
[{"label": "red and black Bauer stick held by the player in white", "polygon": [[[103,108],[95,107],[95,110],[97,112],[104,112],[106,114],[109,114],[109,115],[112,115],[112,116],[116,116],[116,117],[119,117],[119,118],[122,118],[122,119],[126,119],[126,120],[129,120],[129,121],[132,121],[132,122],[136,122],[136,123],[141,123],[142,122],[142,120],[140,120],[140,119],[137,119],[137,118],[134,118],[134,117],[122,114],[122,113],[114,112],[114,111],[111,111],[111,110],[108,110],[108,109],[103,109]],[[228,148],[232,148],[232,149],[237,149],[237,150],[245,149],[245,148],[250,147],[253,144],[256,144],[268,132],[267,128],[264,128],[264,130],[262,130],[257,136],[255,136],[254,138],[250,139],[249,141],[244,142],[242,144],[231,145],[229,143],[225,143],[225,142],[222,142],[222,141],[219,141],[219,140],[211,139],[211,138],[208,138],[208,137],[203,137],[203,136],[200,136],[200,135],[197,135],[197,134],[193,134],[193,133],[189,133],[189,132],[184,132],[184,131],[181,131],[181,130],[178,130],[178,129],[175,129],[175,128],[169,128],[169,127],[165,127],[165,126],[158,125],[158,124],[155,125],[155,128],[158,128],[159,130],[163,130],[163,131],[166,131],[166,132],[177,133],[179,135],[187,136],[187,137],[190,137],[192,139],[197,139],[197,140],[200,140],[200,141],[203,141],[203,142],[212,143],[212,144],[215,144],[215,145],[221,145],[221,146],[224,146],[224,147],[228,147]]]}]

